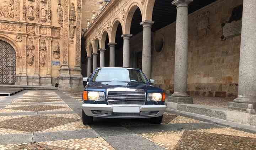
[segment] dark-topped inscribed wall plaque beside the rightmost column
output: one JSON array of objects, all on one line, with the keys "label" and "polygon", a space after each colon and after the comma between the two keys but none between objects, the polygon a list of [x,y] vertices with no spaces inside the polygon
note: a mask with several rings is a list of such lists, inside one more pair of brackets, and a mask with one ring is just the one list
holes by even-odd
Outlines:
[{"label": "dark-topped inscribed wall plaque beside the rightmost column", "polygon": [[222,23],[222,40],[240,35],[242,32],[242,5],[235,7],[229,21]]}]

